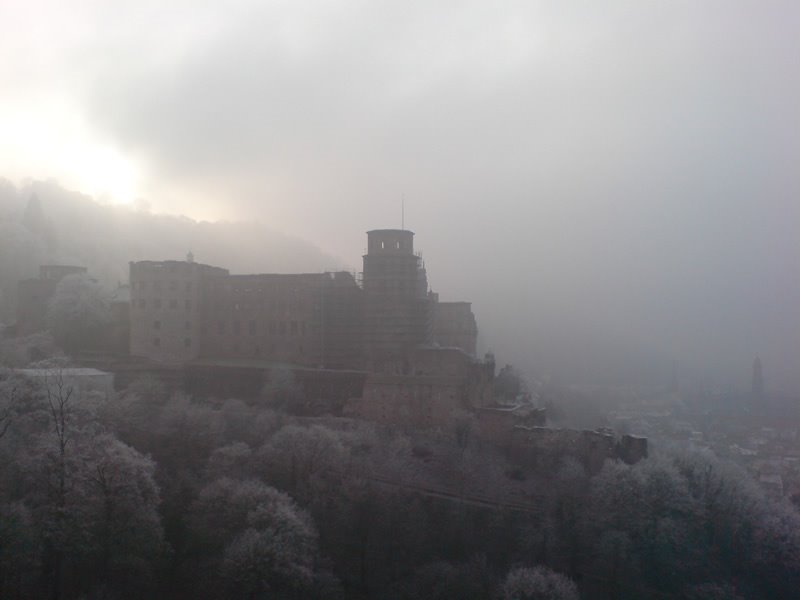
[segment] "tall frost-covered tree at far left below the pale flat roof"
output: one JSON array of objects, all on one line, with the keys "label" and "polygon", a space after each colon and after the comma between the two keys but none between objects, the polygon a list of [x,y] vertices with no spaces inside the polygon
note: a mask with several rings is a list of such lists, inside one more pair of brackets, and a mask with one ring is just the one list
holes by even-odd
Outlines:
[{"label": "tall frost-covered tree at far left below the pale flat roof", "polygon": [[95,412],[58,368],[23,390],[8,501],[30,514],[37,596],[141,597],[153,582],[163,549],[155,465],[102,433]]}]

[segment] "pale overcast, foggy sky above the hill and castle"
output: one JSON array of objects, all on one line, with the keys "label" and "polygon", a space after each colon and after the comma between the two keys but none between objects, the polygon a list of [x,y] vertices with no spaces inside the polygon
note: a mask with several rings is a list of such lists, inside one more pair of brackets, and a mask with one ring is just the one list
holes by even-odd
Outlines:
[{"label": "pale overcast, foggy sky above the hill and castle", "polygon": [[417,233],[501,360],[800,384],[800,4],[0,4],[0,175]]}]

